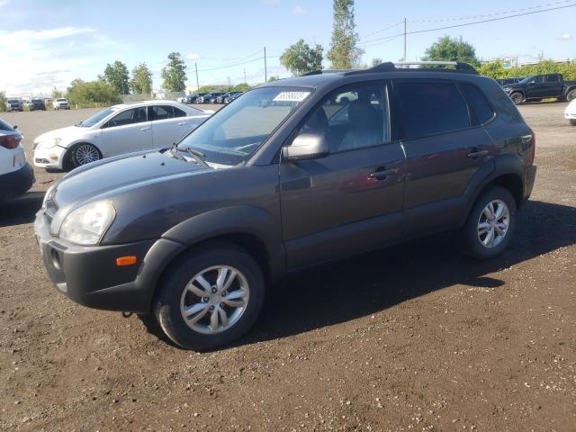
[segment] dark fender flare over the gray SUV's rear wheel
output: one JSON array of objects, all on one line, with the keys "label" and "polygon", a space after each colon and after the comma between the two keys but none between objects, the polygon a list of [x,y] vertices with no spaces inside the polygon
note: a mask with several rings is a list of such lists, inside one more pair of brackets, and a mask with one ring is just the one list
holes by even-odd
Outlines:
[{"label": "dark fender flare over the gray SUV's rear wheel", "polygon": [[520,184],[522,184],[521,196],[524,196],[525,166],[518,155],[508,153],[492,158],[476,171],[464,190],[466,207],[459,226],[463,226],[464,223],[466,223],[466,219],[468,219],[468,214],[472,210],[474,202],[476,202],[484,188],[488,184],[491,184],[494,179],[500,177],[500,175],[510,174],[518,175],[518,180],[520,181]]}]

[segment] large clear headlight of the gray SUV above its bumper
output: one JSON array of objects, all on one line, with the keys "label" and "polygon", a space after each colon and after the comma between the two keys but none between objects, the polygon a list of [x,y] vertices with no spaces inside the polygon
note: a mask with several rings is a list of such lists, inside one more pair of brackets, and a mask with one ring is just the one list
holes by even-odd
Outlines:
[{"label": "large clear headlight of the gray SUV above its bumper", "polygon": [[112,225],[115,215],[111,202],[86,204],[67,215],[60,227],[59,237],[78,245],[96,245]]}]

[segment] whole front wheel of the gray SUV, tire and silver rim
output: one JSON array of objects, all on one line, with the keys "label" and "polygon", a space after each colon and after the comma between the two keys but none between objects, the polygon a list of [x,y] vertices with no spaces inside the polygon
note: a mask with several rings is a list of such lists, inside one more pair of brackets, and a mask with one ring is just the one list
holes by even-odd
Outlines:
[{"label": "whole front wheel of the gray SUV, tire and silver rim", "polygon": [[243,249],[217,243],[178,259],[159,286],[154,313],[177,345],[197,351],[228,345],[262,310],[264,276]]}]

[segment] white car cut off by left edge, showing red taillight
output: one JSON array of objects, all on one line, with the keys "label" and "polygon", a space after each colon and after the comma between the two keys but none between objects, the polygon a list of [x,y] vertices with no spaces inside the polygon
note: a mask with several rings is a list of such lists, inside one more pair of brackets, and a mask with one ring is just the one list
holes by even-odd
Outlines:
[{"label": "white car cut off by left edge, showing red taillight", "polygon": [[22,139],[20,130],[0,119],[0,202],[22,195],[34,184]]}]

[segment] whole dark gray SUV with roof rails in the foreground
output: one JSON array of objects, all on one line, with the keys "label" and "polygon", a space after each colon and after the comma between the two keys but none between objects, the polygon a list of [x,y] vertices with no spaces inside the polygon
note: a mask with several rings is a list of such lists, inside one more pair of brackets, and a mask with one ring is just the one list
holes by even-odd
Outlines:
[{"label": "whole dark gray SUV with roof rails in the foreground", "polygon": [[70,299],[152,313],[176,344],[209,349],[305,266],[440,230],[498,256],[535,144],[500,85],[465,64],[312,73],[242,94],[173,148],[76,168],[35,230]]}]

